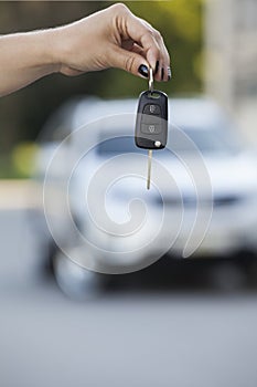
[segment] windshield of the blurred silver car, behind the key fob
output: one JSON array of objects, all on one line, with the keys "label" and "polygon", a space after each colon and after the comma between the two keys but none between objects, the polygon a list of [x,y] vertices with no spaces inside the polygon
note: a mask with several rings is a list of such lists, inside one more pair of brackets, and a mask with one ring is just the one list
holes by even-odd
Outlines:
[{"label": "windshield of the blurred silver car, behind the key fob", "polygon": [[[116,137],[115,137],[116,136]],[[117,134],[110,135],[110,139],[103,140],[99,138],[99,145],[97,146],[97,154],[103,157],[108,157],[110,154],[126,154],[126,153],[146,153],[144,149],[140,149],[135,145],[132,136],[117,137]],[[113,137],[113,138],[111,138]],[[236,144],[235,137],[227,130],[222,129],[194,129],[194,128],[170,128],[169,143],[167,148],[171,153],[193,153],[194,149],[204,155],[212,154],[235,154],[239,150],[238,144]],[[164,151],[157,151],[156,155],[162,157]]]}]

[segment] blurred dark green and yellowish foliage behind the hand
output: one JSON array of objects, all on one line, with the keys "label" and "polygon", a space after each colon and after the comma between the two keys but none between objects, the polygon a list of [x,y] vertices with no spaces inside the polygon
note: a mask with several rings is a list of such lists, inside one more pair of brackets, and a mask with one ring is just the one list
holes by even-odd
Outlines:
[{"label": "blurred dark green and yellowish foliage behind the hand", "polygon": [[[202,15],[204,0],[125,1],[137,15],[160,30],[169,53],[173,80],[158,85],[169,95],[201,93]],[[110,6],[108,1],[0,1],[1,34],[71,22]],[[20,142],[34,142],[45,119],[74,95],[105,98],[138,96],[146,81],[111,69],[78,77],[47,76],[0,100],[0,178],[30,170]],[[32,147],[33,148],[33,147]],[[30,148],[30,149],[32,149]],[[19,166],[19,164],[21,164]],[[26,165],[23,168],[22,165]]]}]

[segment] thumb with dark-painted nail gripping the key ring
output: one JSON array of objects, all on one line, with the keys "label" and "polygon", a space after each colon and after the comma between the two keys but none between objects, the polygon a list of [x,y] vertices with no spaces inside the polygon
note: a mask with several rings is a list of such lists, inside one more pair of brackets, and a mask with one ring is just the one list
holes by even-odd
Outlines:
[{"label": "thumb with dark-painted nail gripping the key ring", "polygon": [[111,63],[114,67],[122,69],[133,75],[139,75],[144,79],[148,77],[149,63],[142,55],[136,52],[127,51],[122,48],[115,48]]}]

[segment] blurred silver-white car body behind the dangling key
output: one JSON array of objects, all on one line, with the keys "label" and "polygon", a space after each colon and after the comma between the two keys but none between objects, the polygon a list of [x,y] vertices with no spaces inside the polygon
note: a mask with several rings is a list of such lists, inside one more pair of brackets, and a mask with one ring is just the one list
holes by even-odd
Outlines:
[{"label": "blurred silver-white car body behind the dangling key", "polygon": [[149,191],[147,153],[133,140],[136,108],[136,100],[78,100],[46,124],[38,175],[47,166],[47,188],[57,187],[50,191],[62,248],[77,243],[71,219],[62,218],[68,179],[71,218],[87,245],[97,245],[99,271],[117,262],[141,269],[164,253],[256,253],[256,156],[219,107],[204,97],[170,101],[168,146],[153,153]]}]

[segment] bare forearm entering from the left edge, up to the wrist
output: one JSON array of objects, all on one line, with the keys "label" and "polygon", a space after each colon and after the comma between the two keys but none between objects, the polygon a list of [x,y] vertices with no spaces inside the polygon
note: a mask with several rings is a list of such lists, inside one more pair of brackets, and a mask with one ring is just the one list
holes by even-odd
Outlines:
[{"label": "bare forearm entering from the left edge, up to the wrist", "polygon": [[0,36],[0,96],[57,72],[53,30]]}]

